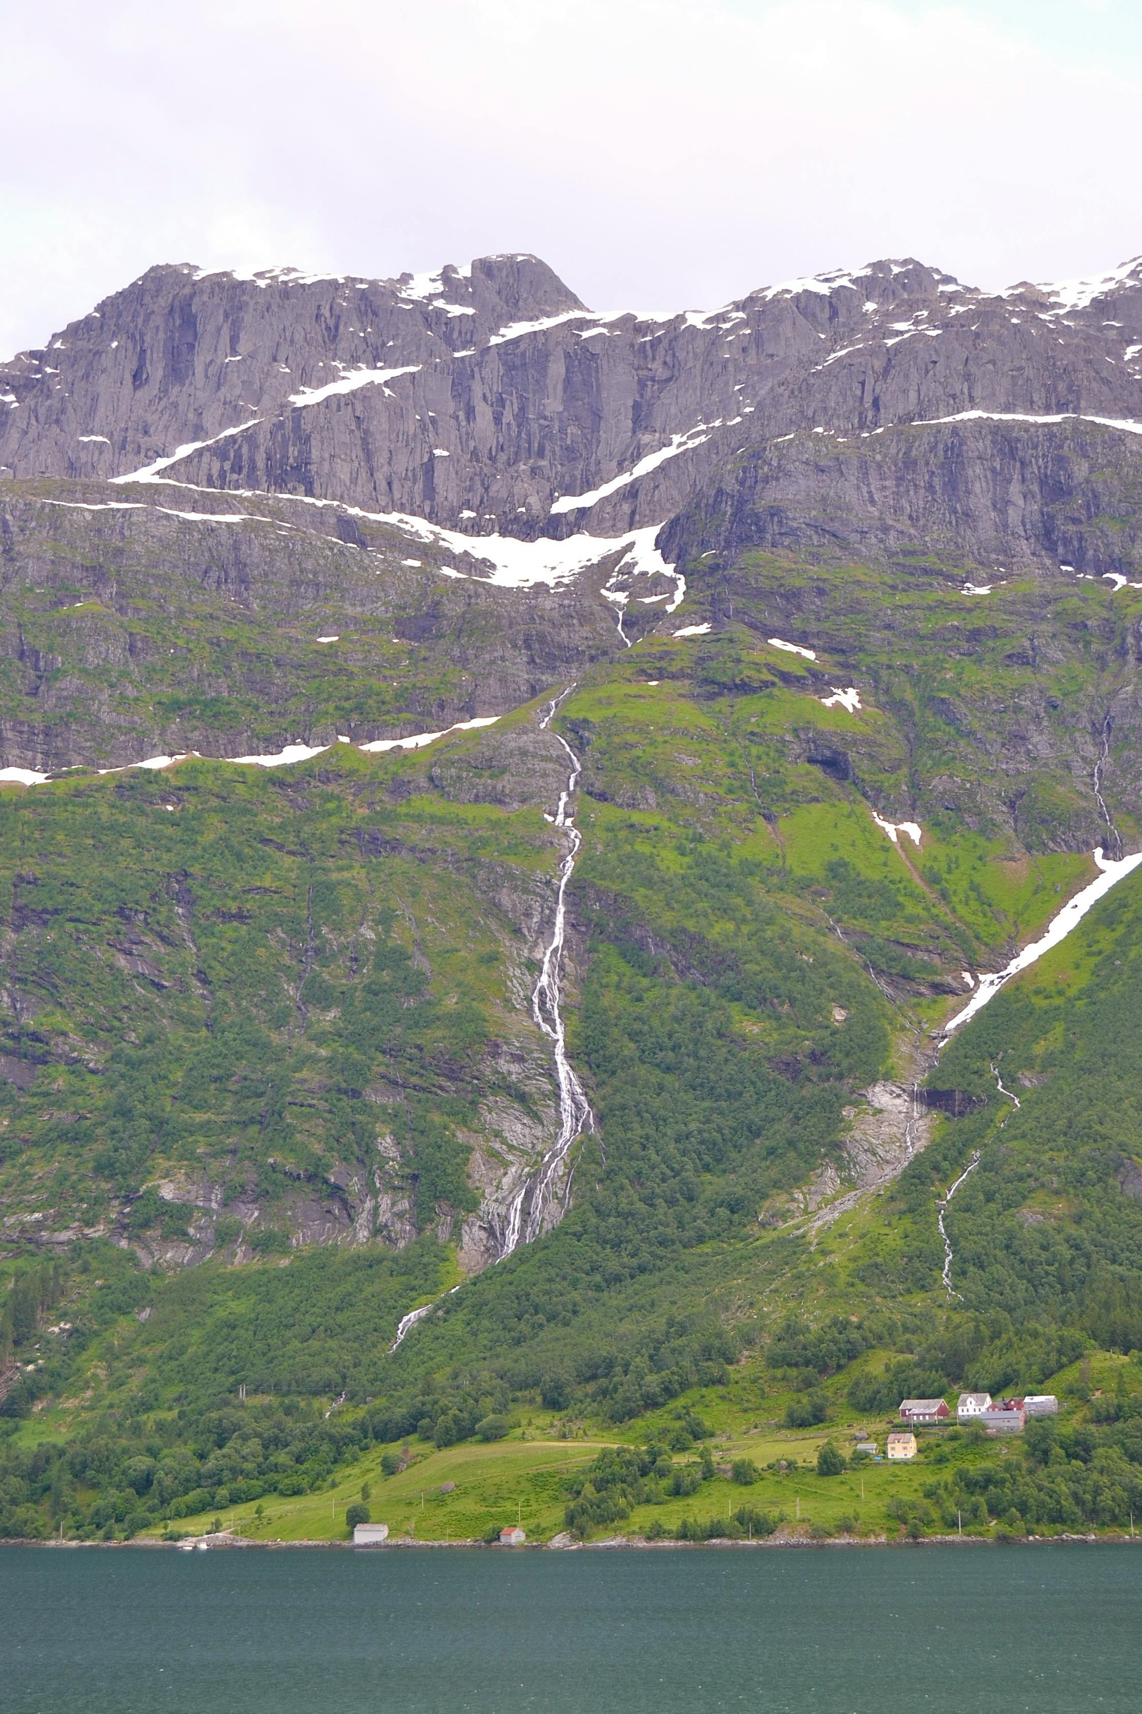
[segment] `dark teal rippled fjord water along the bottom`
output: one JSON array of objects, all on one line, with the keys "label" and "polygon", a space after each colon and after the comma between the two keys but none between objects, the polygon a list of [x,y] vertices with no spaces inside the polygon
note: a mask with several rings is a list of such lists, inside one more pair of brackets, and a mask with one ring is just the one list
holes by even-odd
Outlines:
[{"label": "dark teal rippled fjord water along the bottom", "polygon": [[1130,1546],[0,1549],[7,1714],[1139,1705]]}]

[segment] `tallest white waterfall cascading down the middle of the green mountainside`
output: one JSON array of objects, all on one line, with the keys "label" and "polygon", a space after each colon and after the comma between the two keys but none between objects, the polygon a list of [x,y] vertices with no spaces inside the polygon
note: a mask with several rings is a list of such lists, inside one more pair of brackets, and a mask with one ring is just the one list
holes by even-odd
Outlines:
[{"label": "tallest white waterfall cascading down the middle of the green mountainside", "polygon": [[[574,686],[572,686],[574,689]],[[563,692],[570,694],[570,691]],[[556,698],[548,708],[546,715],[539,722],[539,728],[546,730],[551,725],[551,716],[563,698]],[[567,751],[570,761],[570,773],[567,776],[567,788],[560,794],[558,811],[555,814],[555,826],[563,828],[567,833],[567,855],[560,864],[560,884],[555,902],[555,927],[551,931],[551,939],[543,955],[543,967],[539,970],[539,980],[534,986],[531,996],[531,1015],[543,1030],[543,1034],[551,1042],[555,1056],[555,1076],[560,1090],[560,1130],[544,1154],[539,1171],[534,1179],[526,1179],[515,1191],[512,1203],[507,1212],[507,1224],[503,1227],[503,1238],[500,1241],[500,1256],[510,1256],[519,1243],[529,1244],[543,1231],[543,1222],[555,1198],[555,1181],[567,1160],[567,1154],[584,1131],[594,1130],[594,1114],[591,1112],[591,1102],[579,1082],[570,1059],[567,1058],[567,1032],[563,1027],[563,1011],[560,1008],[560,975],[563,968],[563,941],[567,936],[567,884],[575,869],[575,859],[579,857],[579,848],[582,845],[582,833],[575,826],[575,814],[572,809],[572,797],[575,794],[575,785],[582,771],[580,761],[575,756],[570,744],[560,737],[555,737]],[[563,1198],[567,1198],[567,1190],[570,1188],[570,1179],[563,1190]],[[526,1210],[526,1212],[524,1212]]]}]

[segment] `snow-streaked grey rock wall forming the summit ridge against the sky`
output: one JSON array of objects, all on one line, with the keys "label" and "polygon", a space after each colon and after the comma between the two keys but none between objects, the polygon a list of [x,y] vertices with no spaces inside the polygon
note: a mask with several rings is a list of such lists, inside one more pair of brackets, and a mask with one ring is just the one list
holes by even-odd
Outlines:
[{"label": "snow-streaked grey rock wall forming the summit ridge against the sky", "polygon": [[962,411],[1142,420],[1139,341],[1142,264],[990,297],[885,261],[654,321],[591,315],[534,257],[399,281],[154,267],[0,372],[0,466],[173,461],[180,482],[473,535],[608,535],[664,523],[789,434]]}]

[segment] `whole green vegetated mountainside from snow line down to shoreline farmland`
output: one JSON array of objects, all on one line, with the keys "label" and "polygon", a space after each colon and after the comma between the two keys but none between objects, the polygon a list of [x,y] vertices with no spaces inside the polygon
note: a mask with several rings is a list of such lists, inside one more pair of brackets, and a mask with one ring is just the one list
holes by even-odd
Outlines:
[{"label": "whole green vegetated mountainside from snow line down to shoreline farmland", "polygon": [[[502,1186],[555,1130],[527,996],[565,761],[536,711],[414,758],[5,794],[3,1265],[33,1364],[5,1409],[17,1445],[77,1448],[36,1517],[301,1495],[366,1443],[541,1404],[693,1438],[743,1349],[758,1400],[836,1423],[1142,1345],[1139,878],[938,1066],[931,1037],[1092,878],[1096,764],[1130,840],[1133,759],[1099,740],[1133,694],[1137,598],[1015,584],[979,634],[967,602],[916,572],[699,567],[681,620],[716,629],[565,698],[596,1130],[563,1222],[394,1356],[399,1316],[488,1260]],[[825,706],[851,684],[859,708]],[[1034,812],[1005,783],[1032,752]],[[949,1299],[937,1198],[972,1150]],[[200,1265],[140,1272],[110,1238]],[[181,1474],[140,1489],[132,1457]]]}]

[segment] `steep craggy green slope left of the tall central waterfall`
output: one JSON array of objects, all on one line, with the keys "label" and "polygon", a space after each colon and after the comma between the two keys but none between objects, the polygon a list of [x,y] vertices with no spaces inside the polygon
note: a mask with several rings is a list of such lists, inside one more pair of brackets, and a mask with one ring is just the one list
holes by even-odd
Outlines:
[{"label": "steep craggy green slope left of the tall central waterfall", "polygon": [[[546,746],[532,788],[556,797]],[[447,773],[450,740],[433,754]],[[426,763],[337,746],[75,778],[0,816],[9,1232],[149,1234],[171,1260],[402,1241],[476,1208],[476,1142],[541,1143],[538,809],[452,804]]]}]

